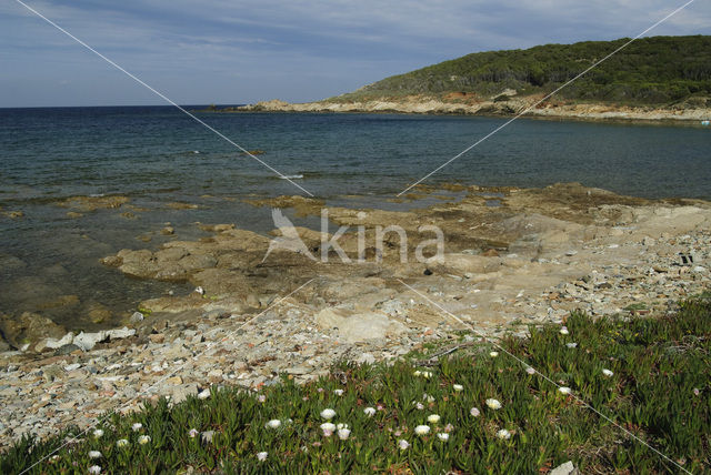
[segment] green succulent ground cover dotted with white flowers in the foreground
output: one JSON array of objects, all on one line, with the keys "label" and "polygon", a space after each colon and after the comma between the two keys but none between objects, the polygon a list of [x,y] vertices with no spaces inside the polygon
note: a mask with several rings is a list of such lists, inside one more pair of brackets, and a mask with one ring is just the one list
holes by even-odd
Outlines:
[{"label": "green succulent ground cover dotted with white flowers in the foreground", "polygon": [[[343,363],[302,386],[284,375],[258,393],[162,400],[111,414],[31,473],[547,473],[569,459],[583,473],[681,472],[574,395],[701,473],[711,464],[710,324],[705,297],[654,319],[573,313],[564,327],[504,338],[505,351],[462,335],[447,351]],[[21,472],[72,434],[22,439],[0,472]]]}]

